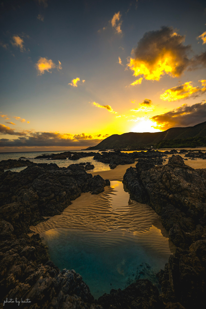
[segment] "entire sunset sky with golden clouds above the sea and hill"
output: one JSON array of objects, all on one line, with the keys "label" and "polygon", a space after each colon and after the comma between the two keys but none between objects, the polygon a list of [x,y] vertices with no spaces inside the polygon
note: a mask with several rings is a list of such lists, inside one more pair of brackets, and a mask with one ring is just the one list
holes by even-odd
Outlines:
[{"label": "entire sunset sky with golden clouds above the sea and hill", "polygon": [[0,152],[206,121],[205,1],[1,2]]}]

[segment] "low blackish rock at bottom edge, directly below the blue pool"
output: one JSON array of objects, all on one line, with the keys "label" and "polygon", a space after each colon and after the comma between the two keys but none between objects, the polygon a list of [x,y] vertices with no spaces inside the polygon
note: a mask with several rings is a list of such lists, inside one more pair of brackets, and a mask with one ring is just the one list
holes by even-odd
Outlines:
[{"label": "low blackish rock at bottom edge, directly below the blue pool", "polygon": [[149,280],[140,279],[124,290],[110,291],[98,299],[104,309],[163,309],[159,292]]}]

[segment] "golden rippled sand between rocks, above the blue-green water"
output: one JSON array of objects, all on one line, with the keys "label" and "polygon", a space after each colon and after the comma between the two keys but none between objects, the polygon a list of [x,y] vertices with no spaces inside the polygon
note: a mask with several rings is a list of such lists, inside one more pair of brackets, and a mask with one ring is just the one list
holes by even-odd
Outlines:
[{"label": "golden rippled sand between rocks, above the blue-green water", "polygon": [[123,184],[112,181],[111,187],[105,187],[104,192],[98,195],[82,193],[61,215],[31,226],[31,230],[42,233],[57,228],[95,232],[120,229],[135,234],[149,231],[155,223],[159,224],[160,219],[151,207],[131,201]]}]

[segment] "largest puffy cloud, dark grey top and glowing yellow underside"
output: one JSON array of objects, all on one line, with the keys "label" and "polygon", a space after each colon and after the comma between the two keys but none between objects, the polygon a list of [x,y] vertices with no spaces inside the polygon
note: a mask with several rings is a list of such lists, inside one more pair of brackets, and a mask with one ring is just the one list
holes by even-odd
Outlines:
[{"label": "largest puffy cloud, dark grey top and glowing yellow underside", "polygon": [[132,50],[128,67],[134,76],[143,75],[148,80],[159,80],[162,75],[180,76],[189,64],[190,45],[183,45],[185,36],[172,27],[146,32]]}]

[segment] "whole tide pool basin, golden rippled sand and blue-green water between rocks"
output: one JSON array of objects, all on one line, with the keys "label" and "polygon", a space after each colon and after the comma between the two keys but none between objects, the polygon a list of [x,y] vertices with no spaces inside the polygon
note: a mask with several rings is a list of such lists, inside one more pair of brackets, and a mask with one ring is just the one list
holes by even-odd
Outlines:
[{"label": "whole tide pool basin, golden rippled sand and blue-green water between rocks", "polygon": [[105,189],[82,193],[61,215],[31,227],[44,237],[51,260],[80,273],[95,298],[140,278],[157,283],[155,273],[175,250],[148,205],[130,201],[119,181]]}]

